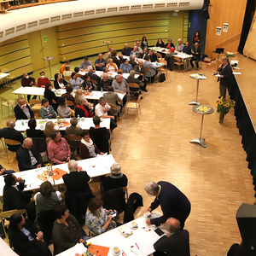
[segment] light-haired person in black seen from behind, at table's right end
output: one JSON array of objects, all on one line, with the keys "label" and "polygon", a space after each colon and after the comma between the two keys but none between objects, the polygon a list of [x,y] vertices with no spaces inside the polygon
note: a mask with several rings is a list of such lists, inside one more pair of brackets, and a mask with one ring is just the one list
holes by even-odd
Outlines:
[{"label": "light-haired person in black seen from behind, at table's right end", "polygon": [[121,166],[119,165],[119,163],[114,163],[110,167],[110,172],[110,175],[103,177],[102,179],[102,192],[127,186],[128,179],[125,174],[121,172]]}]

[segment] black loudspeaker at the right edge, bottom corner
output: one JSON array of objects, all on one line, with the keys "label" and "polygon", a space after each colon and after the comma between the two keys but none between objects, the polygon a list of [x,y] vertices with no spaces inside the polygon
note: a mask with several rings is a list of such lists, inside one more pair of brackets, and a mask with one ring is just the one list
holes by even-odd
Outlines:
[{"label": "black loudspeaker at the right edge, bottom corner", "polygon": [[236,212],[236,221],[242,243],[256,254],[256,205],[242,204]]}]

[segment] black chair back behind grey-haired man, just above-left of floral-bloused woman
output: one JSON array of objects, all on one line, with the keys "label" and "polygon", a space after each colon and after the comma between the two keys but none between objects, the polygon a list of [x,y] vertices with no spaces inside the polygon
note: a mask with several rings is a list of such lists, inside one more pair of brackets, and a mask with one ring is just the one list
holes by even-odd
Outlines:
[{"label": "black chair back behind grey-haired man, just above-left of floral-bloused woman", "polygon": [[87,204],[90,198],[94,197],[91,193],[81,193],[71,196],[65,195],[65,201],[69,212],[78,220],[80,225],[84,225],[84,218]]}]

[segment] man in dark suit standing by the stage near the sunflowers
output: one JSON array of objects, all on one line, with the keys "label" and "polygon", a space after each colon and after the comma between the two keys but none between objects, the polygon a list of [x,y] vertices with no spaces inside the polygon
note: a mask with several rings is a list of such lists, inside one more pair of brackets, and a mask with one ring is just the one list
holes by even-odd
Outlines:
[{"label": "man in dark suit standing by the stage near the sunflowers", "polygon": [[230,66],[229,58],[223,59],[223,64],[218,67],[219,72],[219,95],[220,97],[226,97],[227,88],[230,86],[230,79],[232,76],[232,67]]}]

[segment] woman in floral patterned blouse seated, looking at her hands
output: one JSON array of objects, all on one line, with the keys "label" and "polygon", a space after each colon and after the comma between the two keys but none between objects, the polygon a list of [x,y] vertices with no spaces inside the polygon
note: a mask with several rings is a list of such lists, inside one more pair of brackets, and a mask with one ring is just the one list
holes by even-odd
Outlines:
[{"label": "woman in floral patterned blouse seated, looking at her hands", "polygon": [[116,223],[110,214],[112,210],[103,208],[103,201],[96,197],[90,199],[85,214],[85,224],[91,236],[98,236],[116,228]]}]

